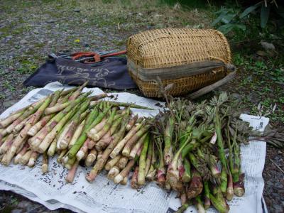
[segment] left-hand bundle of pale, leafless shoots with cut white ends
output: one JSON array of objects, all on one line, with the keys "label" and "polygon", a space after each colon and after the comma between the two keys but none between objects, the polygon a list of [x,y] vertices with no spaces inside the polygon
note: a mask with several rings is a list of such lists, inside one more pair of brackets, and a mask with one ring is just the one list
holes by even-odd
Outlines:
[{"label": "left-hand bundle of pale, leafless shoots with cut white ends", "polygon": [[69,170],[67,182],[83,161],[94,165],[87,175],[90,182],[106,168],[110,179],[126,184],[150,128],[148,119],[132,116],[130,108],[148,108],[99,100],[107,94],[89,96],[82,92],[84,86],[56,91],[1,120],[1,164],[13,160],[33,167],[43,154],[46,173],[48,158],[58,153],[58,163]]}]

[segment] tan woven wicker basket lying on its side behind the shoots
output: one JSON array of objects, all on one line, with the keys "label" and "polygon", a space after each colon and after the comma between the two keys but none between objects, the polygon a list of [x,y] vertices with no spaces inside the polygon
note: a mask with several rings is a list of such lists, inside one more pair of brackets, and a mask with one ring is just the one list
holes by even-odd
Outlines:
[{"label": "tan woven wicker basket lying on its side behind the shoots", "polygon": [[159,97],[156,77],[173,83],[173,96],[221,80],[231,62],[229,44],[215,30],[166,28],[132,35],[127,43],[129,74],[147,97]]}]

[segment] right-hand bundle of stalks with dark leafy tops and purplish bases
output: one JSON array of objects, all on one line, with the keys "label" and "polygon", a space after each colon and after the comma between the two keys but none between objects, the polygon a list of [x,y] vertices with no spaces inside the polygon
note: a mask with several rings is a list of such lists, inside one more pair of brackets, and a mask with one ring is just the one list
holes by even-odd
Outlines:
[{"label": "right-hand bundle of stalks with dark leafy tops and purplish bases", "polygon": [[244,195],[240,143],[247,143],[250,128],[238,118],[226,93],[200,104],[173,99],[157,116],[157,182],[178,192],[178,212],[190,204],[198,212],[210,206],[229,212],[227,201]]}]

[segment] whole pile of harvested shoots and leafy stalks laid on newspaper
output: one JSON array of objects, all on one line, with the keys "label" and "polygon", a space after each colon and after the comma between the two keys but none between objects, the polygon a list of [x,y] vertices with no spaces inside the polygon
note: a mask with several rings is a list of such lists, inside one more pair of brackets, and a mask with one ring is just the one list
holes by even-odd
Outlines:
[{"label": "whole pile of harvested shoots and leafy stalks laid on newspaper", "polygon": [[1,120],[1,164],[33,167],[42,154],[47,173],[49,158],[58,154],[67,182],[82,163],[92,167],[89,182],[102,170],[116,184],[131,180],[133,188],[155,181],[178,192],[179,212],[190,204],[199,212],[211,205],[228,212],[226,201],[244,195],[239,144],[247,125],[236,119],[226,94],[200,104],[173,99],[158,116],[144,118],[131,108],[147,107],[102,100],[107,94],[90,96],[84,86],[56,91]]}]

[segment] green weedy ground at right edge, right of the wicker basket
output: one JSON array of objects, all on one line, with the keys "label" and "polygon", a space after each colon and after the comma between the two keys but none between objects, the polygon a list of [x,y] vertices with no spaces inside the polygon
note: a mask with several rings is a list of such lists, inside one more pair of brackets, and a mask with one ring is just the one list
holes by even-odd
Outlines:
[{"label": "green weedy ground at right edge, right of the wicker basket", "polygon": [[240,77],[234,84],[239,84],[236,90],[239,94],[244,94],[241,101],[246,108],[250,109],[251,114],[258,115],[258,103],[263,106],[263,111],[272,109],[276,104],[275,111],[268,117],[273,124],[282,123],[284,121],[283,59],[279,55],[255,58],[248,53],[236,53],[233,62],[241,70]]}]

